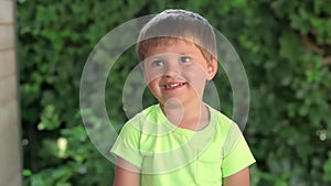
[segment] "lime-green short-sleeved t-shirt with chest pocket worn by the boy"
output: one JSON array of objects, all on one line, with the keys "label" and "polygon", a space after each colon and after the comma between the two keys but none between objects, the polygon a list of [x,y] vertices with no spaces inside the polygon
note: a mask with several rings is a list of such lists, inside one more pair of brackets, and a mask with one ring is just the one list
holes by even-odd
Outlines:
[{"label": "lime-green short-sleeved t-shirt with chest pocket worn by the boy", "polygon": [[200,131],[178,128],[159,105],[130,119],[111,153],[141,171],[141,186],[222,185],[255,162],[237,124],[209,107],[210,123]]}]

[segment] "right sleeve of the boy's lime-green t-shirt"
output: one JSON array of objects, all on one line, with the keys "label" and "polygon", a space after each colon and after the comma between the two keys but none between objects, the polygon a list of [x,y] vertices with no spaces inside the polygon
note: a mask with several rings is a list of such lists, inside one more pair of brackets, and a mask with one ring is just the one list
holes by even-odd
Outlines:
[{"label": "right sleeve of the boy's lime-green t-shirt", "polygon": [[239,128],[234,123],[228,130],[223,149],[223,177],[231,176],[253,163],[255,158],[249,146]]}]

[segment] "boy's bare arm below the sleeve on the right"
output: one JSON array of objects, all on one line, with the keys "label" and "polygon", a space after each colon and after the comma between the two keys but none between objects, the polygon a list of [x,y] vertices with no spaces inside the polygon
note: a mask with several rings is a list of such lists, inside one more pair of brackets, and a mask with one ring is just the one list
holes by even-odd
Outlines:
[{"label": "boy's bare arm below the sleeve on the right", "polygon": [[249,168],[246,167],[238,173],[225,177],[224,186],[249,186]]}]

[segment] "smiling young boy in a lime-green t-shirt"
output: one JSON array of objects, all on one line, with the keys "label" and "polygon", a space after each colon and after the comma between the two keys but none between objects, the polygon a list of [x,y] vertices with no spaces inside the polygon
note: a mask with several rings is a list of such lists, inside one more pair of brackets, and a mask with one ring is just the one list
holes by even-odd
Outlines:
[{"label": "smiling young boy in a lime-green t-shirt", "polygon": [[238,127],[203,102],[217,72],[215,34],[201,15],[166,10],[140,31],[137,53],[159,105],[130,119],[111,152],[115,186],[248,186],[255,162]]}]

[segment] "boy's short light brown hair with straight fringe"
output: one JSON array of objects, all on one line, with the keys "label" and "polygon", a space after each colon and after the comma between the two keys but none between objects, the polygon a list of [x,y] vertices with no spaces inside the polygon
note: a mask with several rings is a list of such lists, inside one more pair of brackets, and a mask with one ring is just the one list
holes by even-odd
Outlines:
[{"label": "boy's short light brown hair with straight fringe", "polygon": [[158,13],[140,30],[136,51],[139,62],[149,47],[167,44],[170,40],[193,43],[207,62],[217,58],[216,40],[212,25],[197,13],[169,9]]}]

